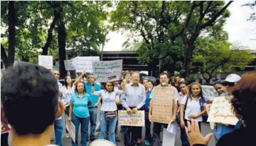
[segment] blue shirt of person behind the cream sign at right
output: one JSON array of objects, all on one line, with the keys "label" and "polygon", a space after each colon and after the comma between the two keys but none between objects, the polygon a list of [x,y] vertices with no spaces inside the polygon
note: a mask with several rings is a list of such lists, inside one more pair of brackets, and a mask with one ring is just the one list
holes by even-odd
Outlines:
[{"label": "blue shirt of person behind the cream sign at right", "polygon": [[[221,96],[228,96],[228,93],[220,94],[219,97]],[[214,130],[214,136],[216,137],[216,139],[220,139],[223,135],[231,133],[234,130],[235,128],[230,128],[225,125],[217,124],[217,129]]]}]

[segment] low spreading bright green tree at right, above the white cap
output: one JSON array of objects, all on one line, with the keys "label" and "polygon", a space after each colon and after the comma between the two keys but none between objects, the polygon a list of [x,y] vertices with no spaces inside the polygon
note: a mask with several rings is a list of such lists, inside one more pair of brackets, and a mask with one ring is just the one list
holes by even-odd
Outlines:
[{"label": "low spreading bright green tree at right, above the white cap", "polygon": [[201,72],[203,79],[210,83],[212,75],[231,72],[235,67],[244,69],[253,60],[252,52],[241,45],[200,37],[196,40],[192,69]]}]

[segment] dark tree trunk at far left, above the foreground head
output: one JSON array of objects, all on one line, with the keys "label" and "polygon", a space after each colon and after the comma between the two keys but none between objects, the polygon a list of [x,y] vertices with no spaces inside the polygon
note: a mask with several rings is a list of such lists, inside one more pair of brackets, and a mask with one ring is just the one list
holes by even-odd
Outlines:
[{"label": "dark tree trunk at far left, above the foreground head", "polygon": [[[3,61],[4,67],[6,68],[14,64],[14,56],[15,56],[15,25],[17,22],[15,17],[14,2],[15,1],[9,1],[9,4],[8,4],[9,48],[8,48],[8,56],[6,58],[7,61]],[[1,46],[1,48],[3,47]]]}]

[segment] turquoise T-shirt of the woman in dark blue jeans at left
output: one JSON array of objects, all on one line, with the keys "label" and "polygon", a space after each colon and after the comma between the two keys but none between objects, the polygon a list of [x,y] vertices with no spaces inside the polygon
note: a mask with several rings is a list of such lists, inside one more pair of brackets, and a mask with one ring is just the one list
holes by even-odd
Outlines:
[{"label": "turquoise T-shirt of the woman in dark blue jeans at left", "polygon": [[77,93],[72,94],[70,99],[70,102],[73,103],[72,112],[79,118],[89,117],[88,101],[90,101],[90,96],[87,93],[83,94],[82,98]]}]

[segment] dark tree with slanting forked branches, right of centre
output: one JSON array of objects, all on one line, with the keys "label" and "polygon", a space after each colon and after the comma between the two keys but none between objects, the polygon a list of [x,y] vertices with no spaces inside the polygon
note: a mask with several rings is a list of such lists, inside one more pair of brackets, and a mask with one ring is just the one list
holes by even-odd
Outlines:
[{"label": "dark tree with slanting forked branches, right of centre", "polygon": [[184,26],[181,31],[184,43],[184,77],[188,77],[191,69],[193,50],[195,50],[195,41],[201,32],[214,25],[222,26],[230,13],[227,7],[233,1],[225,6],[224,1],[193,1]]}]

